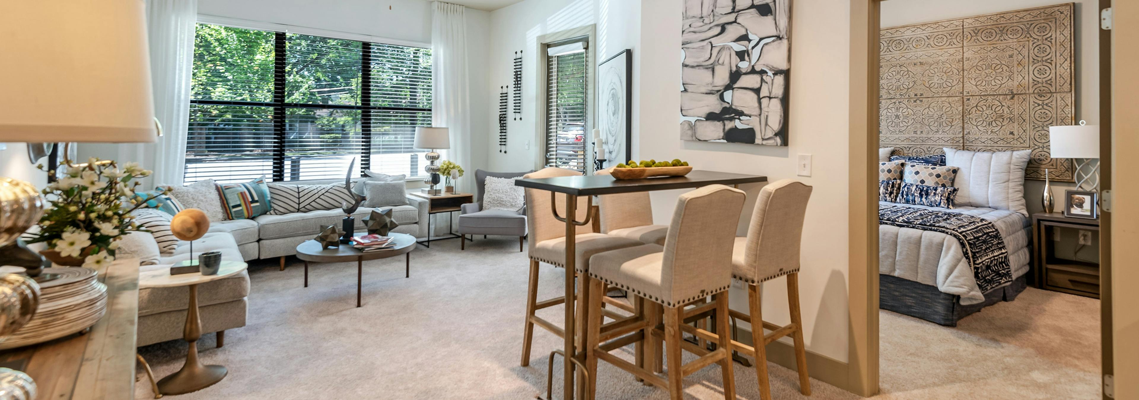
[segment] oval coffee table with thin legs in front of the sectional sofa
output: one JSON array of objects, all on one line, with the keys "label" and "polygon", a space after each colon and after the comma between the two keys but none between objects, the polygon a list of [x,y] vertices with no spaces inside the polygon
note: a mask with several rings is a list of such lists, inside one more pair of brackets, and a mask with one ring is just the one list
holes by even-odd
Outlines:
[{"label": "oval coffee table with thin legs in front of the sectional sofa", "polygon": [[405,255],[404,277],[411,277],[411,250],[416,249],[416,238],[405,233],[391,233],[395,247],[386,250],[363,252],[352,244],[341,243],[338,248],[323,249],[320,242],[310,240],[296,247],[296,258],[304,260],[304,286],[309,288],[309,262],[357,261],[357,307],[360,307],[360,290],[363,281],[363,261]]}]

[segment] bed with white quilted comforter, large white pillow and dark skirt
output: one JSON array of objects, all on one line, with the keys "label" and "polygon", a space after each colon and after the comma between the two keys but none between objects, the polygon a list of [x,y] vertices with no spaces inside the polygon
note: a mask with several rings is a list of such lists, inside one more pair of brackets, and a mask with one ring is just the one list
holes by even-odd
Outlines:
[{"label": "bed with white quilted comforter, large white pillow and dark skirt", "polygon": [[879,201],[879,209],[903,207],[957,213],[991,223],[1007,250],[1011,280],[982,290],[961,240],[931,230],[900,227],[880,220],[878,273],[882,309],[957,326],[961,318],[1000,301],[1013,301],[1026,288],[1032,232],[1024,207],[1023,170],[1027,152],[947,150],[947,164],[960,166],[954,186],[958,206],[929,207]]}]

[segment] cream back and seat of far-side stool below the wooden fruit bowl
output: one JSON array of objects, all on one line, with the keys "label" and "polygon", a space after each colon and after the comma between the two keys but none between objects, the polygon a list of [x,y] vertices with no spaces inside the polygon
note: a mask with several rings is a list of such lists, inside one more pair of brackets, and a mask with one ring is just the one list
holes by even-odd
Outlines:
[{"label": "cream back and seat of far-side stool below the wooden fruit bowl", "polygon": [[[609,175],[601,169],[596,175]],[[653,225],[653,201],[648,192],[598,195],[601,233],[664,245],[667,225]]]}]

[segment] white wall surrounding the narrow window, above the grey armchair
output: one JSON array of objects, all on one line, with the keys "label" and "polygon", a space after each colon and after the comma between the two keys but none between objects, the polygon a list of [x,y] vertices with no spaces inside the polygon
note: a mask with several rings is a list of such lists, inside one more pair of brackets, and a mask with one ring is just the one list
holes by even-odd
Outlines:
[{"label": "white wall surrounding the narrow window, above the grey armchair", "polygon": [[[535,122],[538,105],[539,36],[580,26],[595,25],[596,49],[590,61],[599,61],[624,49],[632,49],[633,70],[639,59],[640,2],[638,0],[527,0],[491,13],[487,85],[485,102],[490,109],[486,120],[486,155],[484,167],[495,172],[528,170],[540,165],[543,131]],[[523,114],[515,120],[508,114],[507,152],[499,152],[498,103],[499,86],[513,84],[514,53],[523,50]],[[633,105],[638,103],[639,78],[633,74]],[[510,94],[511,108],[514,94]],[[637,151],[638,110],[633,109],[633,141]]]}]

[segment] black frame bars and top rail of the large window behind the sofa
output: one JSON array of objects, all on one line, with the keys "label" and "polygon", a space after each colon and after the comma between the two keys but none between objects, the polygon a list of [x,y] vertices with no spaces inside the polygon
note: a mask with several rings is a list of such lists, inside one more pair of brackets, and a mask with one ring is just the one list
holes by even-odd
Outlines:
[{"label": "black frame bars and top rail of the large window behind the sofa", "polygon": [[[352,34],[337,31],[327,31],[319,28],[308,28],[293,25],[273,24],[273,23],[262,23],[246,19],[237,18],[226,18],[208,15],[198,15],[196,24],[208,24],[208,25],[221,25],[241,30],[256,30],[267,31],[273,33],[273,92],[271,101],[237,101],[237,100],[203,100],[203,99],[190,99],[190,106],[203,105],[203,106],[238,106],[238,107],[269,107],[273,110],[273,136],[274,145],[272,151],[272,163],[271,163],[271,182],[304,182],[304,181],[321,181],[325,177],[316,180],[295,180],[289,181],[288,170],[285,167],[286,164],[286,152],[287,152],[287,111],[288,109],[325,109],[325,110],[359,110],[360,113],[360,136],[362,140],[362,148],[359,157],[360,163],[357,166],[359,168],[359,176],[364,176],[364,172],[371,169],[371,150],[372,150],[372,130],[371,124],[372,115],[369,111],[411,111],[411,113],[428,113],[434,118],[433,108],[416,108],[416,107],[388,107],[388,106],[371,106],[372,93],[370,90],[371,81],[371,57],[372,48],[375,44],[387,44],[387,45],[399,45],[399,47],[412,47],[421,49],[432,49],[429,43],[415,42],[415,41],[401,41],[392,40],[385,38],[376,38],[371,35]],[[322,36],[328,39],[338,40],[350,40],[358,41],[361,43],[361,57],[360,57],[360,103],[352,105],[335,105],[335,103],[296,103],[288,102],[287,98],[287,82],[286,82],[286,68],[287,68],[287,50],[286,43],[288,41],[288,34],[300,34],[300,35],[311,35],[311,36]],[[434,72],[434,64],[431,66],[432,72]],[[434,85],[434,82],[432,82]],[[425,125],[429,126],[429,125]],[[183,177],[188,170],[183,170]],[[426,175],[419,174],[421,170],[412,170],[408,176],[408,181],[419,180]],[[327,177],[331,178],[331,177]],[[189,182],[189,181],[187,181]]]}]

